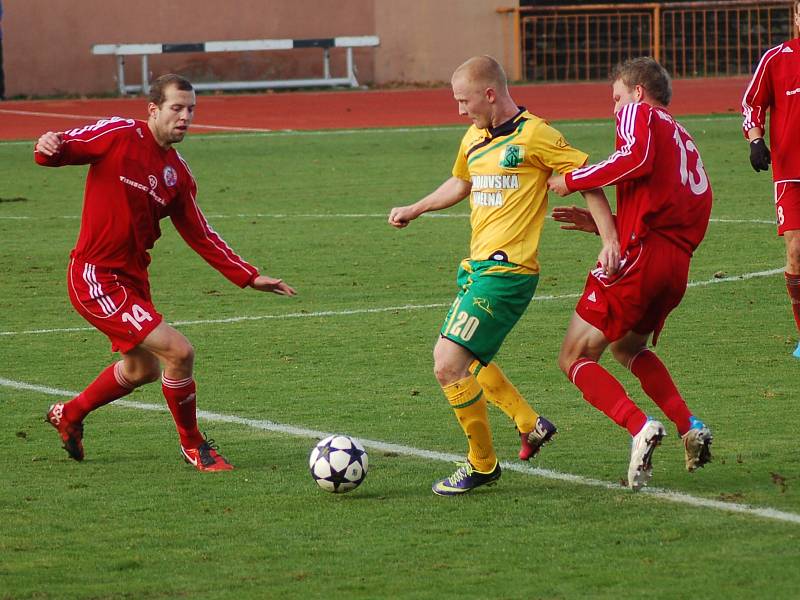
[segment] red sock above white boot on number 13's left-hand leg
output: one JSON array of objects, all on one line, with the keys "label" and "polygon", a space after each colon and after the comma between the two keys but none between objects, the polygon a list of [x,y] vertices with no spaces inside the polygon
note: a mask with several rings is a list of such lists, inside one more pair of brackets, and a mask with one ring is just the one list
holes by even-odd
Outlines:
[{"label": "red sock above white boot on number 13's left-hand leg", "polygon": [[586,401],[614,423],[636,435],[647,422],[645,414],[628,398],[625,389],[595,361],[579,358],[569,368],[569,379]]}]

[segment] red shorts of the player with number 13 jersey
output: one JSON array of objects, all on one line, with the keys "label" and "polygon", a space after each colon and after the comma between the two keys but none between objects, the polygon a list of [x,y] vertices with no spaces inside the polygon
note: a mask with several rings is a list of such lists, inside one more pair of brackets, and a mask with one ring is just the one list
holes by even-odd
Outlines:
[{"label": "red shorts of the player with number 13 jersey", "polygon": [[575,311],[613,342],[629,331],[653,333],[653,345],[667,315],[686,292],[691,257],[674,244],[650,235],[629,248],[623,264],[608,277],[595,269],[586,280]]}]

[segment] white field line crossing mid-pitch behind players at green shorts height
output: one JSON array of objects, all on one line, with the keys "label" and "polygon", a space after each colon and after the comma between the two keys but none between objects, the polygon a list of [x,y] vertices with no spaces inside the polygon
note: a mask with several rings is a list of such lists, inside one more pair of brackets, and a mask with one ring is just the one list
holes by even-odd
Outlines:
[{"label": "white field line crossing mid-pitch behind players at green shorts height", "polygon": [[[772,275],[777,275],[778,273],[783,273],[783,267],[777,269],[770,269],[768,271],[756,271],[753,273],[744,273],[742,275],[730,275],[727,277],[714,277],[713,279],[707,279],[705,281],[690,281],[687,287],[694,288],[694,287],[702,287],[707,285],[714,285],[717,283],[729,283],[732,281],[745,281],[747,279],[755,279],[758,277],[770,277]],[[534,301],[539,302],[547,302],[551,300],[569,300],[580,298],[581,294],[572,293],[572,294],[561,294],[558,296],[534,296]],[[297,312],[297,313],[287,313],[283,315],[252,315],[252,316],[241,316],[241,317],[226,317],[224,319],[201,319],[197,321],[172,321],[170,324],[175,326],[182,326],[182,325],[211,325],[211,324],[223,324],[223,323],[241,323],[244,321],[264,321],[264,320],[272,320],[272,319],[303,319],[308,317],[339,317],[339,316],[348,316],[348,315],[363,315],[363,314],[375,314],[375,313],[385,313],[385,312],[400,312],[400,311],[407,311],[407,310],[424,310],[427,308],[444,308],[445,306],[450,306],[450,303],[447,302],[436,302],[433,304],[404,304],[401,306],[384,306],[384,307],[377,307],[377,308],[354,308],[354,309],[345,309],[345,310],[323,310],[323,311],[315,311],[315,312]],[[94,331],[94,327],[61,327],[61,328],[53,328],[53,329],[26,329],[23,331],[0,331],[0,336],[12,336],[12,335],[40,335],[44,333],[72,333],[77,331]]]}]

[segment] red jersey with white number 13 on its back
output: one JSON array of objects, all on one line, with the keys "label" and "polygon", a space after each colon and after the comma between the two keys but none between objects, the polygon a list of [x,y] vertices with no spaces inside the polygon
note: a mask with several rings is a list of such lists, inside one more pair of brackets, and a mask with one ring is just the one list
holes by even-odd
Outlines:
[{"label": "red jersey with white number 13 on its back", "polygon": [[708,228],[711,186],[697,146],[665,109],[643,102],[617,113],[617,151],[566,176],[570,191],[617,186],[621,251],[650,234],[691,255]]}]

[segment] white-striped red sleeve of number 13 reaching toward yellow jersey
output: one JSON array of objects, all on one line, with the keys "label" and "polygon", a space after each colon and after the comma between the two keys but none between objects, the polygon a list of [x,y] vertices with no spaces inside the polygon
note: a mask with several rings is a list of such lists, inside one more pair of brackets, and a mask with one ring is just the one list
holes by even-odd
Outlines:
[{"label": "white-striped red sleeve of number 13 reaching toward yellow jersey", "polygon": [[626,104],[617,113],[618,150],[603,162],[567,173],[570,191],[592,190],[647,175],[653,170],[654,111],[647,104]]}]

